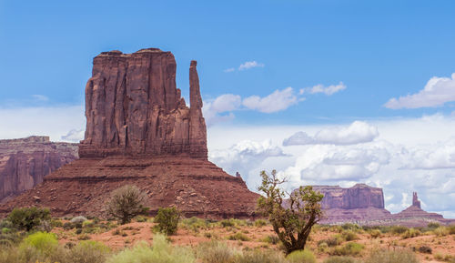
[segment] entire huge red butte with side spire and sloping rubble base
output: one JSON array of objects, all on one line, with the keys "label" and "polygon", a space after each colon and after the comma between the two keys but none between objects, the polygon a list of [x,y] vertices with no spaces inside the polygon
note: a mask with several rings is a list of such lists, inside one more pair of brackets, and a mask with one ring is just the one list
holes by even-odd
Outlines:
[{"label": "entire huge red butte with side spire and sloping rubble base", "polygon": [[252,217],[258,195],[241,177],[207,160],[197,63],[189,68],[190,106],[176,86],[176,61],[157,48],[103,52],[86,85],[86,136],[80,159],[0,207],[50,207],[57,216],[100,215],[111,192],[133,184],[147,206],[186,216]]}]

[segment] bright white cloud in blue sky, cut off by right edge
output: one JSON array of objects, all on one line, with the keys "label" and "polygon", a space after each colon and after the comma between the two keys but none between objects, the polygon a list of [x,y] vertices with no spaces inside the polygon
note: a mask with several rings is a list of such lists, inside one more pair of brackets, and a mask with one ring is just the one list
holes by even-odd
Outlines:
[{"label": "bright white cloud in blue sky, cut off by right edge", "polygon": [[416,94],[390,98],[384,105],[391,109],[443,106],[455,101],[455,73],[450,77],[433,76]]}]

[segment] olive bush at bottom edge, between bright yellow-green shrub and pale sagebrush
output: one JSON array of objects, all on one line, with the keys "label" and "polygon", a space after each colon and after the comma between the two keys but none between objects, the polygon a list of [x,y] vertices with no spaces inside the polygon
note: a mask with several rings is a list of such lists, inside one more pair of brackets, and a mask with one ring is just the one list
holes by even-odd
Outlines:
[{"label": "olive bush at bottom edge, between bright yellow-green shrub and pale sagebrush", "polygon": [[67,252],[67,263],[104,263],[109,248],[96,241],[81,241]]}]

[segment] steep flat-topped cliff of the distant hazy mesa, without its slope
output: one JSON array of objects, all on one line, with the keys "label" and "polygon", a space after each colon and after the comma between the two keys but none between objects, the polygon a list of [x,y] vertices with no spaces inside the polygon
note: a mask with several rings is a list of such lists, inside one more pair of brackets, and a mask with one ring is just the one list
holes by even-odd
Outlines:
[{"label": "steep flat-topped cliff of the distant hazy mesa, without its slope", "polygon": [[322,199],[324,209],[384,208],[384,195],[381,188],[357,184],[349,188],[314,186],[313,189],[324,194]]}]

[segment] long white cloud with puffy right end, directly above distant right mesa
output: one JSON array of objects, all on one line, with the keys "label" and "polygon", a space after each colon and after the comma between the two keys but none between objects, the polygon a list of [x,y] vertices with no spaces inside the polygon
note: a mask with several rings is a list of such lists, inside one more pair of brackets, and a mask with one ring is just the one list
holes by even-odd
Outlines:
[{"label": "long white cloud with puffy right end, directly above distant right mesa", "polygon": [[299,131],[283,140],[283,146],[298,145],[355,145],[374,140],[379,136],[378,128],[363,121],[354,121],[349,126],[319,130],[314,137]]}]

